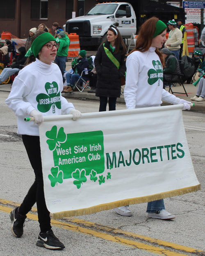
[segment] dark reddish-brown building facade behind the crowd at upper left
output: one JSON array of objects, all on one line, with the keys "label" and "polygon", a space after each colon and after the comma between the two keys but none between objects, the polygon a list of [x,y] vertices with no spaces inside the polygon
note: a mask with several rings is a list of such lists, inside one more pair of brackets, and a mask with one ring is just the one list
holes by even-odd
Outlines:
[{"label": "dark reddish-brown building facade behind the crowd at upper left", "polygon": [[10,32],[19,38],[27,38],[30,28],[44,23],[52,29],[57,22],[63,27],[72,12],[87,12],[96,0],[3,0],[0,8],[0,33]]}]

